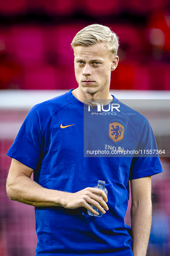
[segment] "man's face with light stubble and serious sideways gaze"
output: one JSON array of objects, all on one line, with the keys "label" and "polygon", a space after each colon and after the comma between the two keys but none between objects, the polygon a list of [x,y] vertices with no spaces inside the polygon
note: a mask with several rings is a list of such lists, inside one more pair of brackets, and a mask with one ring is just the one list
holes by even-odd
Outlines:
[{"label": "man's face with light stubble and serious sideways gaze", "polygon": [[104,43],[92,46],[75,46],[75,76],[82,91],[95,94],[110,86],[113,59]]}]

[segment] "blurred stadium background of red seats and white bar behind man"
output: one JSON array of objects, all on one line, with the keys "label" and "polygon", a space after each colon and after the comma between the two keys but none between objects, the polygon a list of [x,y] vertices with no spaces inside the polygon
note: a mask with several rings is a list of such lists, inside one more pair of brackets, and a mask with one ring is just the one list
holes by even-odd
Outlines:
[{"label": "blurred stadium background of red seats and white bar behind man", "polygon": [[166,152],[160,155],[164,173],[152,177],[148,256],[170,255],[169,1],[5,0],[0,1],[0,256],[33,256],[37,242],[34,208],[6,195],[11,162],[6,152],[33,105],[77,87],[70,43],[94,23],[119,36],[112,94],[149,119],[158,149]]}]

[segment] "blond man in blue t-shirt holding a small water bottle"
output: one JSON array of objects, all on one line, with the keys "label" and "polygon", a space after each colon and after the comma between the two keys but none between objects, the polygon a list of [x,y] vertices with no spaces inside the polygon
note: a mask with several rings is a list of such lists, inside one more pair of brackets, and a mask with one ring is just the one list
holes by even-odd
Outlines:
[{"label": "blond man in blue t-shirt holding a small water bottle", "polygon": [[[8,196],[35,206],[36,255],[144,256],[151,226],[150,176],[162,171],[159,158],[143,157],[143,153],[141,157],[83,157],[84,99],[118,102],[109,94],[110,73],[119,60],[118,38],[108,27],[94,24],[77,33],[72,47],[79,87],[37,104],[28,113],[7,153],[13,158]],[[133,141],[139,150],[155,147],[146,118],[124,104],[121,108],[119,115],[109,116],[110,124],[124,129],[119,143]],[[107,143],[123,148],[115,136],[108,136],[108,125],[104,127]],[[124,223],[129,179],[131,228]],[[113,183],[108,199],[93,188],[98,180]],[[100,218],[87,214],[89,210],[98,215],[89,203],[103,213]]]}]

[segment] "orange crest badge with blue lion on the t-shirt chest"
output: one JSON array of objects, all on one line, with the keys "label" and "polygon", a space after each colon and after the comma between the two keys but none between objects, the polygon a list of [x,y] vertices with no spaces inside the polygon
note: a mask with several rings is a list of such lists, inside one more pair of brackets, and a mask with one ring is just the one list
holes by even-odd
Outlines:
[{"label": "orange crest badge with blue lion on the t-shirt chest", "polygon": [[109,137],[114,142],[121,141],[124,137],[124,130],[125,127],[122,124],[118,122],[113,122],[109,124]]}]

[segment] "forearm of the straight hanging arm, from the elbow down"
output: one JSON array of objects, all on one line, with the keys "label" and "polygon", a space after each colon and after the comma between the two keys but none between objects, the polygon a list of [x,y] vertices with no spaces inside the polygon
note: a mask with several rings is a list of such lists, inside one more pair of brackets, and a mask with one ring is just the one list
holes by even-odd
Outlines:
[{"label": "forearm of the straight hanging arm, from the elbow down", "polygon": [[151,222],[151,199],[131,206],[132,251],[134,256],[146,256]]}]

